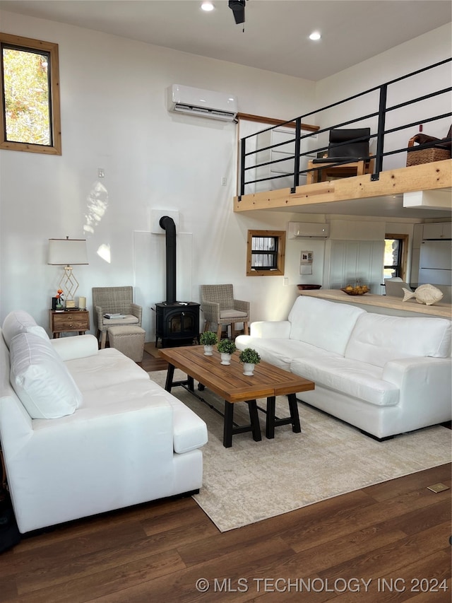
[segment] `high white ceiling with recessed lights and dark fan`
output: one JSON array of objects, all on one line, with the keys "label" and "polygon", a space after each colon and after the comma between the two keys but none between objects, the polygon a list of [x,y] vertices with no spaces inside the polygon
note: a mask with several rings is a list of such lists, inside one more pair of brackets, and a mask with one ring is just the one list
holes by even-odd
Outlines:
[{"label": "high white ceiling with recessed lights and dark fan", "polygon": [[[0,0],[28,16],[318,81],[452,21],[450,0]],[[313,30],[322,37],[308,39]]]}]

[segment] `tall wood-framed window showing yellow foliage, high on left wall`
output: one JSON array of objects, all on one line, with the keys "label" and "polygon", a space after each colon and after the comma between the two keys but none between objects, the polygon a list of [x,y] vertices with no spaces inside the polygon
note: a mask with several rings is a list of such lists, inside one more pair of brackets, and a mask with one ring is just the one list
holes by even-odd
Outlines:
[{"label": "tall wood-framed window showing yellow foliage, high on left wall", "polygon": [[0,148],[61,155],[58,45],[0,33]]}]

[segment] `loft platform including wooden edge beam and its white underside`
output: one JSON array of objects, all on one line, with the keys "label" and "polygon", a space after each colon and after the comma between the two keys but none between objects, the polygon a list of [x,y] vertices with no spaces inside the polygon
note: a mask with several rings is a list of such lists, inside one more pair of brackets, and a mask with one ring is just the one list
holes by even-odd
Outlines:
[{"label": "loft platform including wooden edge beam and its white underside", "polygon": [[[404,194],[434,191],[438,204],[404,206]],[[396,218],[450,217],[452,209],[452,160],[434,161],[371,175],[340,178],[234,197],[234,211],[257,209],[299,213],[388,216]]]}]

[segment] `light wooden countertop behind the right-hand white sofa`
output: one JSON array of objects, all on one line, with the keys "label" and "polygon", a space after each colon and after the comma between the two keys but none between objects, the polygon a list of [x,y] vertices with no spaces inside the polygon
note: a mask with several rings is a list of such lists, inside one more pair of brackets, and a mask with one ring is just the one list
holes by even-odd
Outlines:
[{"label": "light wooden countertop behind the right-hand white sofa", "polygon": [[325,300],[340,301],[357,305],[373,305],[379,308],[391,308],[391,310],[402,310],[403,312],[417,312],[428,316],[441,316],[452,318],[452,304],[438,302],[434,305],[425,305],[417,303],[412,298],[402,301],[402,298],[393,297],[393,295],[375,295],[366,293],[365,295],[347,295],[340,289],[316,289],[314,291],[300,291],[300,295],[309,295],[311,298],[321,298]]}]

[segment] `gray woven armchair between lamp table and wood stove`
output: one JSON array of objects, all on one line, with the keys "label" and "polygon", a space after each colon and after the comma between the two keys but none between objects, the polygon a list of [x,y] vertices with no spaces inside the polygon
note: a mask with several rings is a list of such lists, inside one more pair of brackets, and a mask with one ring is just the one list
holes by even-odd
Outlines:
[{"label": "gray woven armchair between lamp table and wood stove", "polygon": [[[133,303],[132,287],[93,287],[94,322],[100,348],[105,348],[108,327],[136,324],[141,327],[141,305]],[[105,318],[105,314],[121,314],[124,318]]]}]

